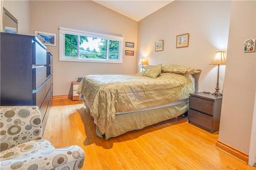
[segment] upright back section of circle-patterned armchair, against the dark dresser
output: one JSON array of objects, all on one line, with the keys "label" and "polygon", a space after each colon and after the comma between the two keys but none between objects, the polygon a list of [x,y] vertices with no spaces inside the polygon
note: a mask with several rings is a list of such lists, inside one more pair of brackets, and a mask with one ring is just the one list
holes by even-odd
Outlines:
[{"label": "upright back section of circle-patterned armchair, against the dark dresser", "polygon": [[1,106],[0,110],[1,152],[42,138],[41,113],[37,106]]}]

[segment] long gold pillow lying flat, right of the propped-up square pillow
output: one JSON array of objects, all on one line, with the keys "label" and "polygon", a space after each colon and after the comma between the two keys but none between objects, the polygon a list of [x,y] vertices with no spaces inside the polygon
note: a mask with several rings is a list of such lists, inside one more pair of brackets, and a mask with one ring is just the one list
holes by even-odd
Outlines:
[{"label": "long gold pillow lying flat, right of the propped-up square pillow", "polygon": [[163,72],[173,72],[176,74],[194,75],[201,72],[200,69],[195,69],[185,65],[165,65],[162,67]]}]

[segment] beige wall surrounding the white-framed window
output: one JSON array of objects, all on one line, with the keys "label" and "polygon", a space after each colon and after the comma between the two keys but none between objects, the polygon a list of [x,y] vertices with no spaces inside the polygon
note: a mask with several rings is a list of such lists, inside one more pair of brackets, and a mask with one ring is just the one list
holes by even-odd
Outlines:
[{"label": "beige wall surrounding the white-framed window", "polygon": [[[137,46],[138,23],[91,1],[32,1],[31,29],[56,33],[53,54],[53,95],[68,94],[71,82],[90,74],[135,74],[136,56],[123,56],[123,64],[59,61],[58,28],[121,35]],[[128,48],[126,48],[127,50]],[[124,47],[125,50],[125,47]],[[135,50],[136,48],[130,48]]]}]

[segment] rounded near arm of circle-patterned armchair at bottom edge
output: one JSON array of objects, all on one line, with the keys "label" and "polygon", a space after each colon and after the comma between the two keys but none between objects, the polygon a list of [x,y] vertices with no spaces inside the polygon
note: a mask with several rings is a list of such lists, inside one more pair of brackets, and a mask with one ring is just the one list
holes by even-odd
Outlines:
[{"label": "rounded near arm of circle-patterned armchair at bottom edge", "polygon": [[22,159],[8,159],[1,162],[1,169],[81,169],[83,163],[83,150],[73,145],[35,153]]}]

